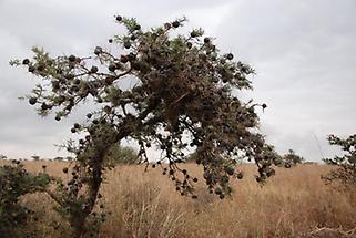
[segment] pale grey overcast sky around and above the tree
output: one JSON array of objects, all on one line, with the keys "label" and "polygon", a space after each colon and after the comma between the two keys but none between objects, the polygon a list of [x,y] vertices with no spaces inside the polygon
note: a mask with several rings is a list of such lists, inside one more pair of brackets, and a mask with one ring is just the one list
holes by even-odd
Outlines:
[{"label": "pale grey overcast sky around and above the tree", "polygon": [[35,81],[9,60],[31,56],[33,45],[52,55],[88,54],[122,32],[119,13],[144,28],[182,15],[187,31],[204,28],[223,51],[256,69],[245,95],[268,105],[261,114],[267,142],[321,161],[335,153],[328,134],[356,133],[355,12],[355,0],[0,0],[0,154],[63,155],[53,144],[71,136],[80,115],[60,123],[39,117],[18,100]]}]

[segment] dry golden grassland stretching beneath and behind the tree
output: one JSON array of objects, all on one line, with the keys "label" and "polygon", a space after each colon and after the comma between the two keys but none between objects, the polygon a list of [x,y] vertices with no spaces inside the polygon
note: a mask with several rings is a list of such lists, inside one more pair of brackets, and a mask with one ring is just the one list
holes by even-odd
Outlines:
[{"label": "dry golden grassland stretching beneath and behind the tree", "polygon": [[[59,162],[26,162],[31,172],[63,176]],[[182,197],[160,168],[118,166],[106,174],[101,198],[110,211],[101,237],[301,237],[317,227],[349,230],[356,227],[355,192],[337,192],[321,179],[329,167],[301,165],[277,168],[261,187],[254,179],[255,167],[243,165],[245,177],[232,180],[233,195],[218,199],[205,188],[202,168],[184,165],[200,178],[199,198]],[[53,204],[43,194],[24,198],[43,214],[43,237],[60,237],[45,223],[59,219]],[[100,204],[99,203],[99,204]],[[99,208],[98,208],[99,210]],[[50,217],[50,218],[48,218]],[[64,223],[64,221],[62,221]]]}]

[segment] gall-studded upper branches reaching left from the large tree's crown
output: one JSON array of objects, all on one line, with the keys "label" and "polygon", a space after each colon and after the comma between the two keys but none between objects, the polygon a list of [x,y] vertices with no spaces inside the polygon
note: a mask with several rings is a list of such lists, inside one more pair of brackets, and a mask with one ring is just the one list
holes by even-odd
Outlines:
[{"label": "gall-studded upper branches reaching left from the large tree's crown", "polygon": [[[109,61],[108,58],[110,58],[108,73],[99,72],[99,68],[95,65],[87,68],[85,63],[81,63],[85,58],[81,59],[75,55],[69,55],[50,59],[47,55],[48,59],[45,61],[42,60],[41,64],[49,70],[43,71],[44,73],[40,76],[52,79],[50,84],[51,89],[44,89],[43,93],[39,92],[39,90],[33,91],[34,95],[29,97],[29,103],[31,105],[41,103],[40,111],[44,114],[54,106],[61,106],[61,110],[57,112],[55,116],[55,120],[60,121],[63,116],[70,114],[73,106],[83,101],[88,95],[93,96],[95,102],[103,103],[103,92],[108,92],[113,82],[120,77],[116,71],[130,70],[130,68],[141,70],[141,64],[136,63],[133,53],[113,60],[111,59],[113,58],[112,55],[109,56],[110,53],[105,52],[101,46],[96,46],[94,54],[100,59],[101,63],[106,63]],[[45,62],[52,63],[49,65],[45,64]],[[130,66],[124,65],[126,62],[130,62]],[[23,63],[30,66],[32,64],[40,64],[31,63],[28,59],[23,60]],[[38,75],[37,71],[33,73]],[[83,77],[85,76],[92,76],[94,80],[84,80]],[[104,91],[103,87],[105,87]],[[42,90],[42,87],[40,90]],[[51,92],[51,94],[45,95],[44,91]]]}]

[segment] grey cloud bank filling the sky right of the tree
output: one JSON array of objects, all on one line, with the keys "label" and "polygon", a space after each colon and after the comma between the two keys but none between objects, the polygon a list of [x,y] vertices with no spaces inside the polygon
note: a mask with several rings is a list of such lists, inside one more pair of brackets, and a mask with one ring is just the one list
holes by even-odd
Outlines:
[{"label": "grey cloud bank filling the sky right of the tree", "polygon": [[355,133],[355,1],[238,1],[220,43],[257,71],[251,97],[269,105],[261,116],[267,141],[319,159],[327,134]]}]

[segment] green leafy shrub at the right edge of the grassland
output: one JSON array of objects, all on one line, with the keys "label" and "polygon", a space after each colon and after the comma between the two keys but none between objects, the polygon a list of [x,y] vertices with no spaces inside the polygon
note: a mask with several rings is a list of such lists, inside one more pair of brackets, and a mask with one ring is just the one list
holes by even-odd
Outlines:
[{"label": "green leafy shrub at the right edge of the grassland", "polygon": [[343,188],[355,188],[356,186],[356,134],[348,138],[339,138],[329,135],[330,145],[337,145],[345,153],[343,156],[325,158],[328,165],[336,166],[335,169],[323,176],[326,183],[339,183]]}]

